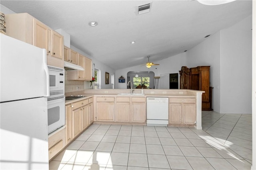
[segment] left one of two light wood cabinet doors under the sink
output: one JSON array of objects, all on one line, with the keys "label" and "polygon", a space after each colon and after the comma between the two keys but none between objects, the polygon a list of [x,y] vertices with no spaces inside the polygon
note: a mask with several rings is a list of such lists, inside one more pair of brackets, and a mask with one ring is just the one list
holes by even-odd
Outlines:
[{"label": "left one of two light wood cabinet doors under the sink", "polygon": [[116,121],[130,121],[130,103],[116,103]]}]

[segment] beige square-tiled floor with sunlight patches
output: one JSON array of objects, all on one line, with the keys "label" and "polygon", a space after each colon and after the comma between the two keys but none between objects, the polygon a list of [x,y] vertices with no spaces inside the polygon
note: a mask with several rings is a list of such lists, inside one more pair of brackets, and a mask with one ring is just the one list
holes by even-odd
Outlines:
[{"label": "beige square-tiled floor with sunlight patches", "polygon": [[93,124],[49,166],[54,170],[250,170],[252,115],[202,111],[202,127]]}]

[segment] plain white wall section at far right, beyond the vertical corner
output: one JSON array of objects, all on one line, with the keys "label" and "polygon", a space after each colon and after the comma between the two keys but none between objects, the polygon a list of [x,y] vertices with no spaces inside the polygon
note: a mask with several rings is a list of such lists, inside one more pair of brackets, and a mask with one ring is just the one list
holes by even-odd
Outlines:
[{"label": "plain white wall section at far right, beyond the vertical corner", "polygon": [[252,113],[252,16],[220,31],[220,113]]}]

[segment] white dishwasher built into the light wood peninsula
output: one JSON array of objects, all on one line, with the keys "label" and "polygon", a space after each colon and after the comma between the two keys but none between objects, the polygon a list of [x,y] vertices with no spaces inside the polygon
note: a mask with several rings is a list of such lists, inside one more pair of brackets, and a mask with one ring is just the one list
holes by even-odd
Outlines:
[{"label": "white dishwasher built into the light wood peninsula", "polygon": [[147,126],[168,125],[168,98],[147,97]]}]

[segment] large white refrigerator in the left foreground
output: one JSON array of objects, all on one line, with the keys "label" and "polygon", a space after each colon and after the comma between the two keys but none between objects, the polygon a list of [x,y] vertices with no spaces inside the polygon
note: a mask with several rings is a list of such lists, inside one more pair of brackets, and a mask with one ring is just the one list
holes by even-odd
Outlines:
[{"label": "large white refrigerator in the left foreground", "polygon": [[49,168],[46,50],[0,34],[0,169]]}]

